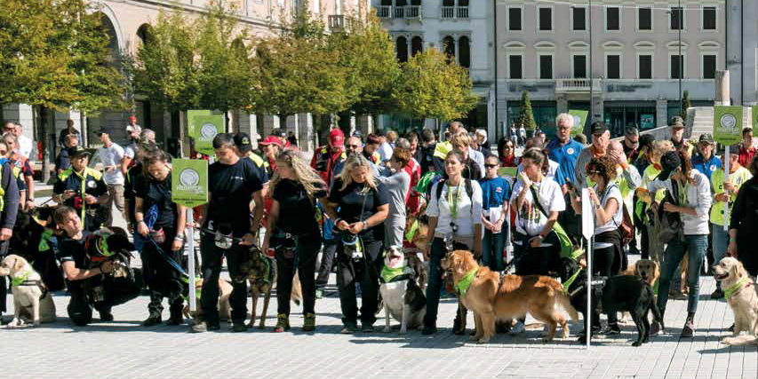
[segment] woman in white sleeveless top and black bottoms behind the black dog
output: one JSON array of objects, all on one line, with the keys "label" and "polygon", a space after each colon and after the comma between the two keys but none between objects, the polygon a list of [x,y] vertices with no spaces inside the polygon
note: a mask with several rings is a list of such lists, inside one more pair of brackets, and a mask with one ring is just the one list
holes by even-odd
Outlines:
[{"label": "woman in white sleeveless top and black bottoms behind the black dog", "polygon": [[[586,176],[595,185],[588,188],[589,199],[592,201],[594,210],[594,244],[592,246],[593,275],[610,277],[617,275],[623,262],[621,251],[621,235],[618,233],[618,225],[624,222],[622,204],[624,199],[621,190],[613,184],[616,178],[617,161],[609,155],[599,158],[593,157],[586,165]],[[571,206],[578,215],[581,214],[581,198],[574,194],[571,196]],[[593,326],[600,327],[600,313],[592,315]],[[602,334],[618,335],[616,312],[608,313],[608,326]],[[582,333],[586,335],[585,332]]]}]

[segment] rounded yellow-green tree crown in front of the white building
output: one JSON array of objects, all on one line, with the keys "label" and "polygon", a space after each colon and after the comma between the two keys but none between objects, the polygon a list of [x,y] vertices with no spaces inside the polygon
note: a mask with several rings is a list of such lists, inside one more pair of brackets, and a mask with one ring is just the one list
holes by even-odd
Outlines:
[{"label": "rounded yellow-green tree crown in front of the white building", "polygon": [[471,88],[465,68],[430,48],[403,63],[392,99],[400,112],[412,117],[454,120],[476,106]]}]

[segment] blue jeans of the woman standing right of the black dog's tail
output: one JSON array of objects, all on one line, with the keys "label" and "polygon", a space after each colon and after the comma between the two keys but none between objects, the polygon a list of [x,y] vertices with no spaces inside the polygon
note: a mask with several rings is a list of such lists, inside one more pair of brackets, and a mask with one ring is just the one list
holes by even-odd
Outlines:
[{"label": "blue jeans of the woman standing right of the black dog's tail", "polygon": [[671,241],[666,247],[663,264],[660,270],[660,285],[658,288],[658,308],[661,314],[666,311],[668,301],[668,288],[674,273],[682,262],[684,253],[688,252],[687,262],[687,287],[690,293],[687,298],[687,312],[694,313],[698,310],[698,296],[700,295],[700,267],[706,257],[708,248],[707,234],[685,235],[684,241]]}]

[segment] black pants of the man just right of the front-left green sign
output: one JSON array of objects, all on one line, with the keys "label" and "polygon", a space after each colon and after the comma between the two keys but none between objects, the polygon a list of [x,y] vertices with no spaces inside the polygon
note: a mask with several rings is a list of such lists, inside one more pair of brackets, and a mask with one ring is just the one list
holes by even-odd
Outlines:
[{"label": "black pants of the man just right of the front-left green sign", "polygon": [[[200,239],[200,255],[203,258],[203,290],[200,294],[200,306],[203,308],[203,319],[210,325],[219,324],[219,275],[221,259],[227,257],[227,267],[232,278],[239,274],[239,265],[247,258],[246,246],[236,242],[231,249],[219,249],[213,235],[203,233]],[[229,296],[232,307],[232,320],[244,322],[247,315],[247,280],[242,283],[232,283],[234,289]]]}]

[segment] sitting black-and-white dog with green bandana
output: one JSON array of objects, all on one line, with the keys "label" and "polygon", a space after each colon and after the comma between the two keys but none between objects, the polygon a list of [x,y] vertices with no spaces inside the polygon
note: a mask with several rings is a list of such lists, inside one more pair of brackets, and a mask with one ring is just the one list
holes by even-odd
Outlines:
[{"label": "sitting black-and-white dog with green bandana", "polygon": [[403,249],[392,246],[387,249],[381,272],[381,292],[384,303],[386,327],[385,332],[392,330],[389,317],[400,321],[400,334],[405,334],[408,328],[419,328],[427,314],[427,296],[419,287],[416,277],[419,274],[405,265]]}]

